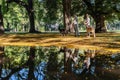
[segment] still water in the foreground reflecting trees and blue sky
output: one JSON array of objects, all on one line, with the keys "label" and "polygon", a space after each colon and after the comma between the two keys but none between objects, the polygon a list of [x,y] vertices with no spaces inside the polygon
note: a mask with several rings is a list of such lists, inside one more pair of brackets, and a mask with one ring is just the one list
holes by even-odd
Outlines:
[{"label": "still water in the foreground reflecting trees and blue sky", "polygon": [[0,80],[120,80],[120,53],[66,47],[0,47]]}]

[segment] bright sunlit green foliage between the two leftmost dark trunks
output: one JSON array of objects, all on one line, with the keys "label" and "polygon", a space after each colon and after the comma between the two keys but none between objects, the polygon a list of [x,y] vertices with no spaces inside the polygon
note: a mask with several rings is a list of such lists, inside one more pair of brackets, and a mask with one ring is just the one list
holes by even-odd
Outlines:
[{"label": "bright sunlit green foliage between the two leftmost dark trunks", "polygon": [[4,25],[5,28],[7,26],[7,23],[10,23],[10,28],[15,29],[19,25],[19,29],[23,24],[27,24],[28,22],[28,16],[25,9],[16,3],[11,3],[11,5],[8,6],[9,10],[6,14],[4,14]]}]

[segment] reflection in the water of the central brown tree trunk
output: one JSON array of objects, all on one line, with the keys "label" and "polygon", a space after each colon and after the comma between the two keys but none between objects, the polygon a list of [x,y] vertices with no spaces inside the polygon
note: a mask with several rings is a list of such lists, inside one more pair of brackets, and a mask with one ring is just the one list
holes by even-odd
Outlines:
[{"label": "reflection in the water of the central brown tree trunk", "polygon": [[72,72],[72,63],[74,58],[76,57],[76,52],[72,53],[71,49],[63,47],[61,50],[64,53],[64,74],[62,76],[62,80],[76,80],[76,76]]}]

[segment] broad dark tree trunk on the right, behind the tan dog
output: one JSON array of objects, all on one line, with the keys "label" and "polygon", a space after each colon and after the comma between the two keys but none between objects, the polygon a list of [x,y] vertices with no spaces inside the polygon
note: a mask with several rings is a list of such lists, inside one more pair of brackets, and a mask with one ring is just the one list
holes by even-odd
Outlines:
[{"label": "broad dark tree trunk on the right, behind the tan dog", "polygon": [[96,28],[95,28],[96,33],[107,32],[107,29],[105,27],[105,19],[103,15],[100,14],[96,15],[94,20],[96,23]]}]

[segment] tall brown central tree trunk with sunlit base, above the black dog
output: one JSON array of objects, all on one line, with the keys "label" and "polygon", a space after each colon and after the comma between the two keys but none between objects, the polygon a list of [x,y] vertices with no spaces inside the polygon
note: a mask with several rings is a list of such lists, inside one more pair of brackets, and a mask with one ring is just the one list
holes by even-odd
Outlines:
[{"label": "tall brown central tree trunk with sunlit base, above the black dog", "polygon": [[66,30],[69,29],[69,25],[70,25],[70,19],[71,19],[70,9],[71,9],[71,0],[63,0],[63,18],[64,18],[63,21]]}]

